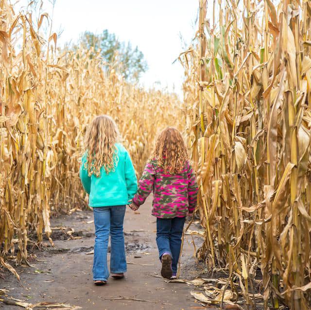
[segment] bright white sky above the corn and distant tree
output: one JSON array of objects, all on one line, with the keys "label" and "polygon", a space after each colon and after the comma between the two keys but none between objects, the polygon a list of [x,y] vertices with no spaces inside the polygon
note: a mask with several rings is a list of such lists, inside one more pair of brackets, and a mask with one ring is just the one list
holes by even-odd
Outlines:
[{"label": "bright white sky above the corn and distant tree", "polygon": [[198,0],[56,0],[53,30],[63,30],[58,39],[63,46],[70,40],[77,42],[85,31],[108,29],[143,52],[149,69],[141,83],[159,88],[160,82],[161,88],[181,95],[183,68],[179,62],[172,63],[184,50],[180,34],[187,46],[194,37],[198,6]]}]

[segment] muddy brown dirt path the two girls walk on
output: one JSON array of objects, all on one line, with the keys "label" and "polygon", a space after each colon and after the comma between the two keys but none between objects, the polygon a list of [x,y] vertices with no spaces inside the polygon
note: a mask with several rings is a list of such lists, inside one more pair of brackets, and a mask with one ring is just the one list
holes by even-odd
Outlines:
[{"label": "muddy brown dirt path the two girls walk on", "polygon": [[[81,236],[81,239],[66,240],[68,236],[61,230],[53,230],[55,248],[37,251],[39,261],[33,262],[35,267],[21,268],[18,271],[24,289],[13,276],[0,279],[0,288],[6,288],[10,296],[26,302],[66,302],[85,310],[205,309],[191,297],[193,287],[183,283],[167,283],[157,276],[160,264],[155,244],[155,217],[150,215],[150,209],[149,198],[139,209],[140,214],[134,214],[129,209],[126,211],[126,279],[109,279],[104,287],[93,285],[93,255],[88,254],[94,245],[94,224],[88,223],[93,220],[93,214],[91,211],[84,211],[52,220],[52,227],[66,227],[66,231],[73,228],[75,232],[72,235]],[[186,237],[181,270],[181,277],[184,278],[193,278],[198,274],[195,271],[190,241],[191,238]],[[108,260],[109,258],[110,255]],[[109,299],[120,296],[148,301]],[[0,304],[1,310],[17,308],[19,307]]]}]

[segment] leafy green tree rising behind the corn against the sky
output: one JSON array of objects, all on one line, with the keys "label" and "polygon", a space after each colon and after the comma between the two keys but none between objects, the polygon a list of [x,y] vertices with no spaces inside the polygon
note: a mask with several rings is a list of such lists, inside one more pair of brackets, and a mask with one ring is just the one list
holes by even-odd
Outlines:
[{"label": "leafy green tree rising behind the corn against the sky", "polygon": [[95,51],[100,50],[105,62],[121,63],[120,73],[127,81],[137,81],[141,73],[146,72],[148,68],[144,55],[138,47],[133,49],[130,42],[120,42],[116,35],[109,33],[108,30],[104,30],[101,34],[86,32],[80,41],[87,49],[93,47]]}]

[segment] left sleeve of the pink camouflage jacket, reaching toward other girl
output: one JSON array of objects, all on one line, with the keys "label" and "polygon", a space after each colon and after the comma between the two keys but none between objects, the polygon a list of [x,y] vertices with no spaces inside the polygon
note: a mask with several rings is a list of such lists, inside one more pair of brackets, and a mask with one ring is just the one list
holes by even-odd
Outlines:
[{"label": "left sleeve of the pink camouflage jacket, reaching toward other girl", "polygon": [[150,161],[146,163],[144,172],[138,183],[138,191],[133,198],[133,202],[139,207],[145,202],[146,198],[154,188],[155,168]]}]

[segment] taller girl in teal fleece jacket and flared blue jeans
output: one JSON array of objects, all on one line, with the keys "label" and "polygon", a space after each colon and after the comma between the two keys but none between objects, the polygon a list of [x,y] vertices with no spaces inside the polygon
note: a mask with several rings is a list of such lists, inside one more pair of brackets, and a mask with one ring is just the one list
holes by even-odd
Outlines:
[{"label": "taller girl in teal fleece jacket and flared blue jeans", "polygon": [[96,285],[106,284],[109,277],[109,234],[111,276],[120,279],[126,272],[123,221],[126,205],[137,191],[137,178],[131,158],[117,143],[118,138],[114,120],[107,115],[97,116],[86,132],[86,152],[80,167],[80,179],[94,213],[93,279]]}]

